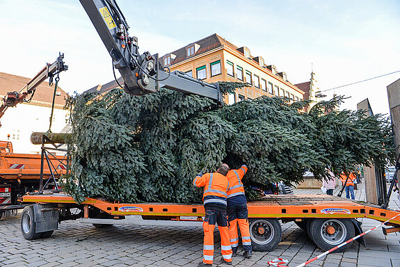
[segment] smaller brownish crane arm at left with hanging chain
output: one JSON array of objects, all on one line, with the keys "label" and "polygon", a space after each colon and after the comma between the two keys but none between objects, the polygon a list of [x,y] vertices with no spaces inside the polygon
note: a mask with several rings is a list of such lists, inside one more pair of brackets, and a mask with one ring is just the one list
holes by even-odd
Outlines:
[{"label": "smaller brownish crane arm at left with hanging chain", "polygon": [[[31,81],[26,83],[26,86],[24,86],[24,88],[19,90],[19,92],[17,91],[8,92],[7,95],[3,97],[0,106],[0,118],[3,117],[8,107],[15,106],[22,102],[30,102],[30,100],[33,97],[33,94],[35,93],[36,88],[40,86],[40,83],[45,81],[45,79],[53,77],[54,75],[64,70],[68,70],[68,66],[64,65],[63,58],[64,54],[60,53],[56,61],[54,61],[54,63],[52,64],[47,63],[46,67],[43,67],[42,70],[40,70],[40,72],[38,72],[38,74],[36,74],[31,79]],[[26,99],[28,96],[30,96],[30,98]]]}]

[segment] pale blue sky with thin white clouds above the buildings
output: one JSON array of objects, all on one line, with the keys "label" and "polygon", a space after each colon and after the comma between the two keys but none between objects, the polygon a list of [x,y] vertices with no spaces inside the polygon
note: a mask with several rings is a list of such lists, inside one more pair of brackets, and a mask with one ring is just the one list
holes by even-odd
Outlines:
[{"label": "pale blue sky with thin white clouds above the buildings", "polygon": [[[161,55],[218,33],[287,72],[291,83],[310,79],[326,90],[400,70],[400,1],[127,1],[118,0],[140,51]],[[0,72],[31,77],[58,51],[70,70],[67,92],[113,79],[109,57],[79,1],[0,0]],[[400,72],[330,91],[369,98],[388,113],[386,86]]]}]

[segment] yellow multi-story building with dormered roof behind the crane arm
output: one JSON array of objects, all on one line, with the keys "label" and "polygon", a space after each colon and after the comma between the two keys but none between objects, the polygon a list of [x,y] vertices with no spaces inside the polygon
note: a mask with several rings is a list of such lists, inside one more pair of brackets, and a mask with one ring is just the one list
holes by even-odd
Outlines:
[{"label": "yellow multi-story building with dormered roof behind the crane arm", "polygon": [[209,83],[238,81],[248,86],[225,97],[227,104],[262,95],[303,100],[304,92],[287,80],[285,72],[252,56],[248,47],[237,47],[217,34],[210,35],[160,58],[164,67],[179,70]]}]

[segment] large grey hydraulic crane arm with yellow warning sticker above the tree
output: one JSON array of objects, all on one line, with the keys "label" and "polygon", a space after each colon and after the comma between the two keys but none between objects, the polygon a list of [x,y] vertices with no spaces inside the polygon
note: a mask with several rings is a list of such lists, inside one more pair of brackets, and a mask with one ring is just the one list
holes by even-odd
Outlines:
[{"label": "large grey hydraulic crane arm with yellow warning sticker above the tree", "polygon": [[88,13],[113,65],[124,79],[129,95],[144,95],[159,88],[209,97],[216,102],[223,98],[218,84],[205,83],[183,72],[164,71],[158,55],[139,54],[138,38],[129,36],[129,25],[115,0],[79,0]]}]

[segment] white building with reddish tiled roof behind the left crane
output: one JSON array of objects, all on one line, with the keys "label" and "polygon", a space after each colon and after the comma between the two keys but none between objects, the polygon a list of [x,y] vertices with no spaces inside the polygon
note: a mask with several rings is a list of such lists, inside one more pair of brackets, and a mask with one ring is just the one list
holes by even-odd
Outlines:
[{"label": "white building with reddish tiled roof behind the left crane", "polygon": [[[7,92],[18,92],[30,80],[26,77],[0,72],[1,99],[7,95]],[[41,145],[31,143],[31,133],[45,132],[49,129],[53,94],[54,85],[49,86],[49,83],[45,81],[36,88],[31,102],[7,108],[0,119],[0,140],[13,143],[15,153],[39,154]],[[66,97],[67,93],[58,88],[51,125],[51,131],[54,133],[67,131],[70,128],[69,115],[64,109]]]}]

